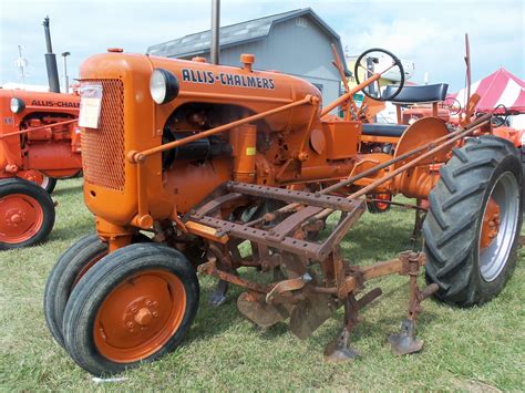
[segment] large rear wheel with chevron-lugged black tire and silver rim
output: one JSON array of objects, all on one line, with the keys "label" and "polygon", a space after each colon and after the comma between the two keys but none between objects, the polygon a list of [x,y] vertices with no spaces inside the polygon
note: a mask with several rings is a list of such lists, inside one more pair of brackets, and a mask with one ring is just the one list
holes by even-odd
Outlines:
[{"label": "large rear wheel with chevron-lugged black tire and silver rim", "polygon": [[522,228],[522,163],[507,141],[482,136],[441,168],[423,224],[426,279],[461,307],[500,293],[516,263]]}]

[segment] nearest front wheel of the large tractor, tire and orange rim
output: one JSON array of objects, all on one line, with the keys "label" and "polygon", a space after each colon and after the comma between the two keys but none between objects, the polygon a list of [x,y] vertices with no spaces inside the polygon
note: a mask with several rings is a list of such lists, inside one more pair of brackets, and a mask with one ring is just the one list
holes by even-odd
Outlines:
[{"label": "nearest front wheel of the large tractor, tire and orange rim", "polygon": [[63,320],[73,360],[110,375],[173,351],[198,308],[195,269],[156,244],[123,247],[96,262],[73,288]]}]

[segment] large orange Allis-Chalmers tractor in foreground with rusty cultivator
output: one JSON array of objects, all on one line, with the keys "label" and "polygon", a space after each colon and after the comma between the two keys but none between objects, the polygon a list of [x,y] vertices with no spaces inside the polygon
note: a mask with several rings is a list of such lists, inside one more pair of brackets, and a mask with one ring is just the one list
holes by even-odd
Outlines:
[{"label": "large orange Allis-Chalmers tractor in foreground with rusty cultivator", "polygon": [[[403,74],[375,51],[391,65],[325,105],[313,85],[256,71],[249,54],[231,68],[112,49],[83,63],[84,199],[96,234],[60,257],[44,296],[51,333],[81,368],[109,375],[175,350],[197,312],[197,271],[218,279],[212,304],[240,286],[247,319],[289,319],[300,339],[343,308],[328,361],[357,355],[359,311],[381,296],[370,280],[410,280],[389,340],[395,354],[422,349],[425,298],[469,307],[502,290],[522,227],[517,149],[492,135],[491,115],[454,128],[429,116],[402,132],[393,155],[363,153],[367,114],[353,94],[388,70]],[[338,106],[343,118],[330,114]],[[367,195],[381,193],[430,200],[424,252],[359,266],[340,242],[353,241]]]}]

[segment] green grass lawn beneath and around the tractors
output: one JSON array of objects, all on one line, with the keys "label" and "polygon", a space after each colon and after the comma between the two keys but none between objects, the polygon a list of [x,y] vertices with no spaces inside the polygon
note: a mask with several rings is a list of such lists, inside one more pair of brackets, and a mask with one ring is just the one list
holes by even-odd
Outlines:
[{"label": "green grass lawn beneath and around the tractors", "polygon": [[[45,245],[0,254],[0,389],[193,389],[193,390],[525,390],[525,252],[504,291],[492,302],[457,309],[434,300],[423,303],[418,334],[422,353],[394,358],[388,334],[405,316],[406,278],[372,281],[384,294],[361,313],[351,335],[361,358],[327,364],[326,343],[341,327],[341,312],[311,338],[300,341],[285,323],[256,331],[236,310],[240,293],[207,304],[214,280],[202,278],[202,302],[184,344],[161,361],[128,371],[126,381],[96,385],[52,340],[45,327],[42,296],[61,252],[93,231],[82,201],[81,179],[59,183],[54,230]],[[342,244],[348,259],[368,263],[410,248],[412,214],[366,214]],[[352,240],[350,240],[352,239]]]}]

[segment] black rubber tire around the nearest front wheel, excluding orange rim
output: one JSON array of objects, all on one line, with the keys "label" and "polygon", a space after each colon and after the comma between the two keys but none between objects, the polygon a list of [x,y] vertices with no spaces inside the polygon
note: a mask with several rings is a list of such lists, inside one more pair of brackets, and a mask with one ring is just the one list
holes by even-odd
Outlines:
[{"label": "black rubber tire around the nearest front wheel, excluding orange rim", "polygon": [[[176,275],[186,291],[186,309],[175,334],[157,352],[132,363],[116,363],[97,351],[93,338],[96,313],[111,291],[126,278],[141,271],[161,269]],[[62,330],[73,360],[94,375],[109,375],[154,361],[175,349],[184,339],[198,309],[199,286],[195,269],[179,251],[156,244],[121,248],[101,259],[73,289]]]}]

